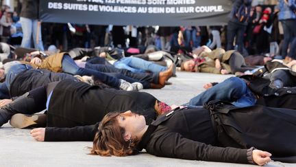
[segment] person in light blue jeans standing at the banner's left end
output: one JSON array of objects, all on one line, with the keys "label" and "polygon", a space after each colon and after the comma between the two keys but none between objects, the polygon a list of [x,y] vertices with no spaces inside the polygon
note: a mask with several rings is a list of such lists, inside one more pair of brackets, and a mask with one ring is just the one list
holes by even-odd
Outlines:
[{"label": "person in light blue jeans standing at the banner's left end", "polygon": [[23,29],[23,40],[21,47],[31,47],[33,35],[35,49],[44,51],[41,25],[38,21],[39,0],[23,0],[21,8],[21,25]]}]

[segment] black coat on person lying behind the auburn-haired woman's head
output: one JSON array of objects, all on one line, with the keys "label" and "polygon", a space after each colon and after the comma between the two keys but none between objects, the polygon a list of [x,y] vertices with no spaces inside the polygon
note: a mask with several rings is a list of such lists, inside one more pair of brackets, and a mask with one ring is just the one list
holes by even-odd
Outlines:
[{"label": "black coat on person lying behind the auburn-haired woman's head", "polygon": [[[84,82],[62,80],[53,89],[49,101],[45,141],[93,140],[94,133],[86,136],[79,133],[69,136],[67,134],[80,131],[79,127],[73,128],[75,126],[96,124],[106,113],[112,111],[131,110],[145,115],[146,121],[151,122],[157,116],[154,108],[156,100],[145,92],[101,89]],[[87,127],[88,131],[97,131],[95,126]],[[84,132],[85,130],[81,133]]]}]

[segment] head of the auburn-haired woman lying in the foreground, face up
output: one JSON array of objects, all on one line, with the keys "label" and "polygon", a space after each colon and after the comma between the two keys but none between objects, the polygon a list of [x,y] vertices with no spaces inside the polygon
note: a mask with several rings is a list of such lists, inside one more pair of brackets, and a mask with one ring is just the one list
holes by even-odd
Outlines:
[{"label": "head of the auburn-haired woman lying in the foreground, face up", "polygon": [[137,153],[136,145],[140,142],[146,128],[143,115],[132,113],[132,111],[108,113],[99,124],[90,153],[119,157]]}]

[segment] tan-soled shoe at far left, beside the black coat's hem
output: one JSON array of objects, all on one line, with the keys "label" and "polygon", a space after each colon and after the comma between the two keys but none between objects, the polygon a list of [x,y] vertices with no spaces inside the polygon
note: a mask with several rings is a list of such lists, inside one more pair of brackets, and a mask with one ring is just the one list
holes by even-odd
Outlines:
[{"label": "tan-soled shoe at far left, beside the black coat's hem", "polygon": [[19,129],[45,127],[46,124],[47,116],[45,114],[25,115],[22,113],[16,113],[10,119],[10,125]]}]

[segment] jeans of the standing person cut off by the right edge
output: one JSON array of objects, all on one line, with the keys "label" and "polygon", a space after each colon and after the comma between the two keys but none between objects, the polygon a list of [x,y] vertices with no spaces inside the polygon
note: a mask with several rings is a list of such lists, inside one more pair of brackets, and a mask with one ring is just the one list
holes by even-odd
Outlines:
[{"label": "jeans of the standing person cut off by the right edge", "polygon": [[288,54],[288,45],[293,41],[293,38],[296,36],[296,20],[288,19],[282,20],[282,27],[284,30],[284,40],[282,43],[282,56],[286,57]]}]

